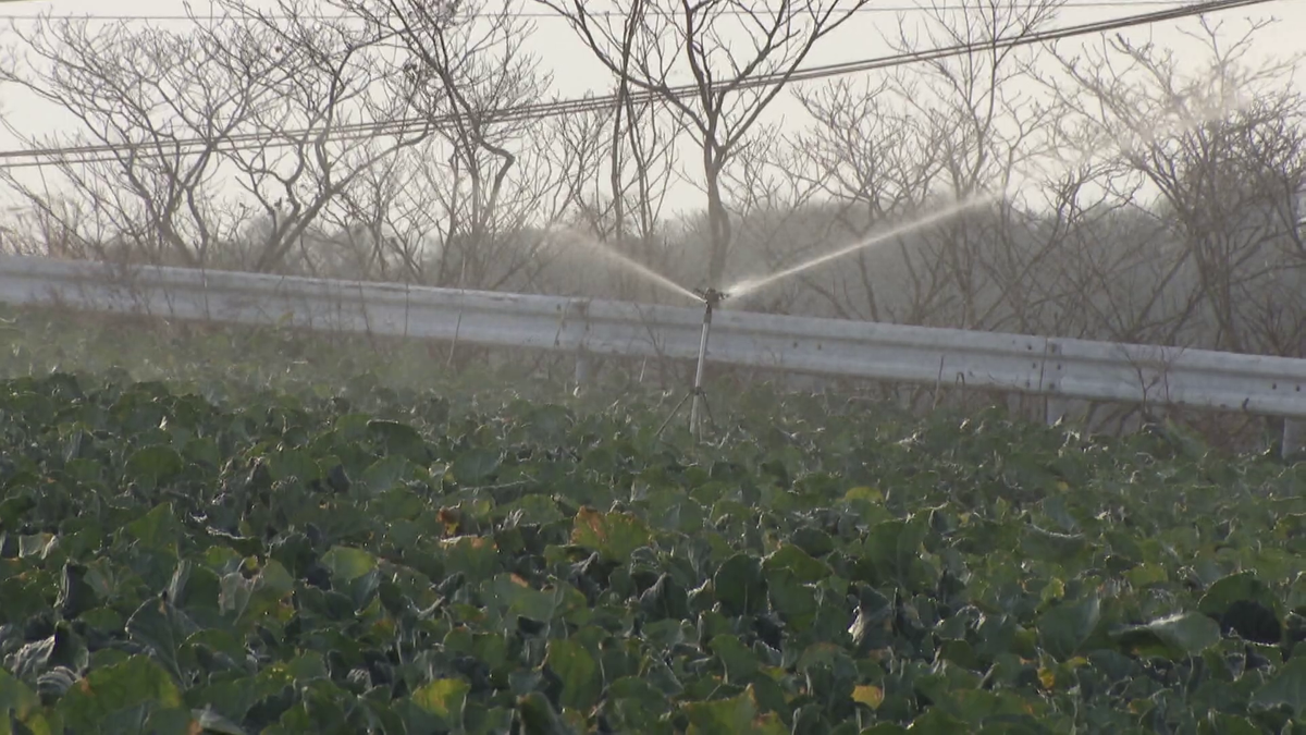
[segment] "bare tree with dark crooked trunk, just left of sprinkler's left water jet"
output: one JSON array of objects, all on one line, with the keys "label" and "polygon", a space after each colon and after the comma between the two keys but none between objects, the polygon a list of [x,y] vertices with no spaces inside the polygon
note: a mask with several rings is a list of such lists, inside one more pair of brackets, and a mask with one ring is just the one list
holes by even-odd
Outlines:
[{"label": "bare tree with dark crooked trunk, just left of sprinkler's left water jet", "polygon": [[479,3],[330,3],[396,48],[406,114],[438,131],[400,169],[405,183],[389,213],[392,230],[438,248],[423,280],[529,289],[546,263],[539,228],[575,203],[568,182],[594,167],[588,150],[559,145],[569,122],[517,112],[541,102],[549,85],[521,50],[530,26],[508,7],[487,12]]}]

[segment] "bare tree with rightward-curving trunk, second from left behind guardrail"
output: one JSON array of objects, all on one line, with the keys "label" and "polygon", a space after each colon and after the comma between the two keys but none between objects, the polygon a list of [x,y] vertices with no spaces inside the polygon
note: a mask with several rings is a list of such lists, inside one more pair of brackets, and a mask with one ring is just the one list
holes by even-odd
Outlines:
[{"label": "bare tree with rightward-curving trunk, second from left behind guardrail", "polygon": [[[251,119],[259,143],[227,153],[266,221],[249,265],[274,269],[295,255],[313,271],[304,235],[317,218],[377,166],[427,140],[430,120],[406,115],[413,90],[371,29],[324,18],[303,0],[279,0],[276,16],[244,0],[221,3],[243,21],[213,63],[277,101]],[[273,68],[259,72],[268,59]]]}]

